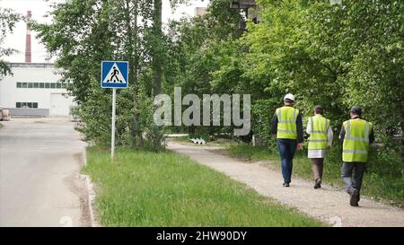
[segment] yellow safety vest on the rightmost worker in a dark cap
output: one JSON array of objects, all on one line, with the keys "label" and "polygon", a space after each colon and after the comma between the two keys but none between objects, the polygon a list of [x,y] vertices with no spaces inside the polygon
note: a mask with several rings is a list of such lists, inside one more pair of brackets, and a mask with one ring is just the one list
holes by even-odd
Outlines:
[{"label": "yellow safety vest on the rightmost worker in a dark cap", "polygon": [[345,137],[342,148],[342,161],[367,162],[369,135],[372,123],[363,119],[351,119],[344,122]]}]

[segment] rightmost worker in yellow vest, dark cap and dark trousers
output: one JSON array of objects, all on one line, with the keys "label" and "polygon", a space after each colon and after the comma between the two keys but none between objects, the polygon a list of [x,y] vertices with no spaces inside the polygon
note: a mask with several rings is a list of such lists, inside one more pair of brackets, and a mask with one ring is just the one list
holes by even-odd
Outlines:
[{"label": "rightmost worker in yellow vest, dark cap and dark trousers", "polygon": [[[350,195],[349,204],[358,206],[362,178],[367,162],[369,144],[374,141],[373,125],[361,118],[362,109],[354,106],[350,110],[351,119],[344,122],[339,138],[344,140],[342,148],[341,177]],[[354,177],[352,177],[354,173]]]}]

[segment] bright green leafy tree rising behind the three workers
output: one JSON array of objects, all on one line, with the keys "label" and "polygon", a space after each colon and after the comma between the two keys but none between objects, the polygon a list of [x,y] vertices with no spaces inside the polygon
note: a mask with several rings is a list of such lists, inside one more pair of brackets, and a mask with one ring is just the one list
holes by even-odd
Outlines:
[{"label": "bright green leafy tree rising behind the three workers", "polygon": [[258,3],[263,20],[250,22],[241,40],[248,49],[238,59],[242,76],[262,81],[277,101],[285,92],[296,93],[304,116],[322,104],[336,133],[348,109],[360,105],[375,125],[377,141],[403,153],[396,137],[404,132],[404,2]]}]

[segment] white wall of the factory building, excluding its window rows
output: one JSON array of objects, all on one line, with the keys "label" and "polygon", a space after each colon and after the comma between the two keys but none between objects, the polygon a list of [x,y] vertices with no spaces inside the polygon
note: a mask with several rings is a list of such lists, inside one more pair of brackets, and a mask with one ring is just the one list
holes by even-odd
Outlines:
[{"label": "white wall of the factory building, excluding its window rows", "polygon": [[[38,109],[42,109],[42,111],[47,109],[48,115],[69,115],[69,109],[74,102],[71,96],[66,95],[66,89],[17,88],[17,83],[57,83],[60,75],[55,74],[54,66],[35,63],[13,63],[11,65],[13,76],[7,75],[0,80],[1,107],[13,111],[16,108],[16,102],[37,102]],[[25,109],[24,111],[30,110]]]}]

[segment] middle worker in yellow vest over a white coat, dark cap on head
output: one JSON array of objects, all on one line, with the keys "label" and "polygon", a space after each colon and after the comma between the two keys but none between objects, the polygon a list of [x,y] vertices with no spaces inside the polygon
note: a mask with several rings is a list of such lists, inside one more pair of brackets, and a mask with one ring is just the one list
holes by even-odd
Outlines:
[{"label": "middle worker in yellow vest over a white coat, dark cap on head", "polygon": [[314,175],[314,188],[321,188],[324,158],[331,147],[333,140],[329,119],[322,116],[320,105],[314,107],[314,117],[309,118],[306,133],[309,137],[308,157],[312,160],[312,173]]}]

